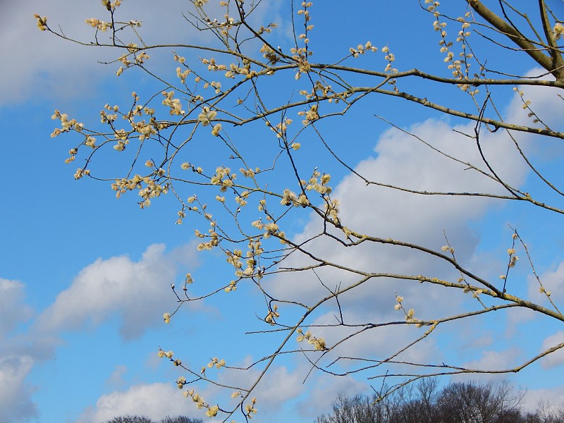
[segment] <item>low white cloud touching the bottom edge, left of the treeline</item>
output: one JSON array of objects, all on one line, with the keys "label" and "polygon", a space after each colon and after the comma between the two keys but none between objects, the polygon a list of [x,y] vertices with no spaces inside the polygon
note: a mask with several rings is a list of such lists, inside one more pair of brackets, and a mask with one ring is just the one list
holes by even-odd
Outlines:
[{"label": "low white cloud touching the bottom edge, left of the treeline", "polygon": [[120,415],[143,415],[159,421],[167,415],[195,417],[197,409],[173,384],[138,384],[101,396],[78,422],[105,422]]}]

